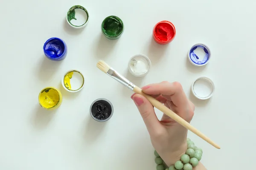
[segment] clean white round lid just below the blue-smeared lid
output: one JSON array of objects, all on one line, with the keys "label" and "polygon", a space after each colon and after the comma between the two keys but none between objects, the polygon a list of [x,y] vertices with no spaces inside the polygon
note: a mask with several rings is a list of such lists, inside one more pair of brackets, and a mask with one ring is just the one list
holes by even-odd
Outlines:
[{"label": "clean white round lid just below the blue-smeared lid", "polygon": [[207,79],[198,79],[194,82],[193,91],[199,98],[207,98],[212,94],[213,87]]}]

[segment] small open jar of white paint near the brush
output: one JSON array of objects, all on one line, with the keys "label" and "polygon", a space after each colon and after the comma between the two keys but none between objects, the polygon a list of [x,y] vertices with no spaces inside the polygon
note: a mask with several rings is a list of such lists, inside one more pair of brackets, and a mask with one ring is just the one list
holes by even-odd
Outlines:
[{"label": "small open jar of white paint near the brush", "polygon": [[144,77],[148,74],[150,66],[150,59],[143,54],[138,54],[129,60],[128,70],[135,77]]}]

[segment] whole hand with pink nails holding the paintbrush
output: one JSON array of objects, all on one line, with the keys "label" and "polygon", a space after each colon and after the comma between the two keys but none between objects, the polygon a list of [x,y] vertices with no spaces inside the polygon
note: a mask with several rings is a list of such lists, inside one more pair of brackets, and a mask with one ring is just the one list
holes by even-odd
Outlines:
[{"label": "whole hand with pink nails holding the paintbrush", "polygon": [[[195,106],[187,99],[179,82],[161,82],[144,86],[142,89],[145,94],[153,96],[187,122],[192,120]],[[188,130],[165,114],[159,121],[154,107],[144,96],[133,94],[131,99],[140,111],[154,149],[167,166],[175,164],[186,152]]]}]

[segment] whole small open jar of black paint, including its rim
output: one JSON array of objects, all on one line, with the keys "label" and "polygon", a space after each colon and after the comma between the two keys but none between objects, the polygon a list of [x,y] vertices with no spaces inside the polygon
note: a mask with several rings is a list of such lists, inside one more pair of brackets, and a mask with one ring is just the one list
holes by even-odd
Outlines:
[{"label": "whole small open jar of black paint, including its rim", "polygon": [[98,122],[106,122],[113,115],[113,105],[107,99],[96,99],[90,106],[90,115]]}]

